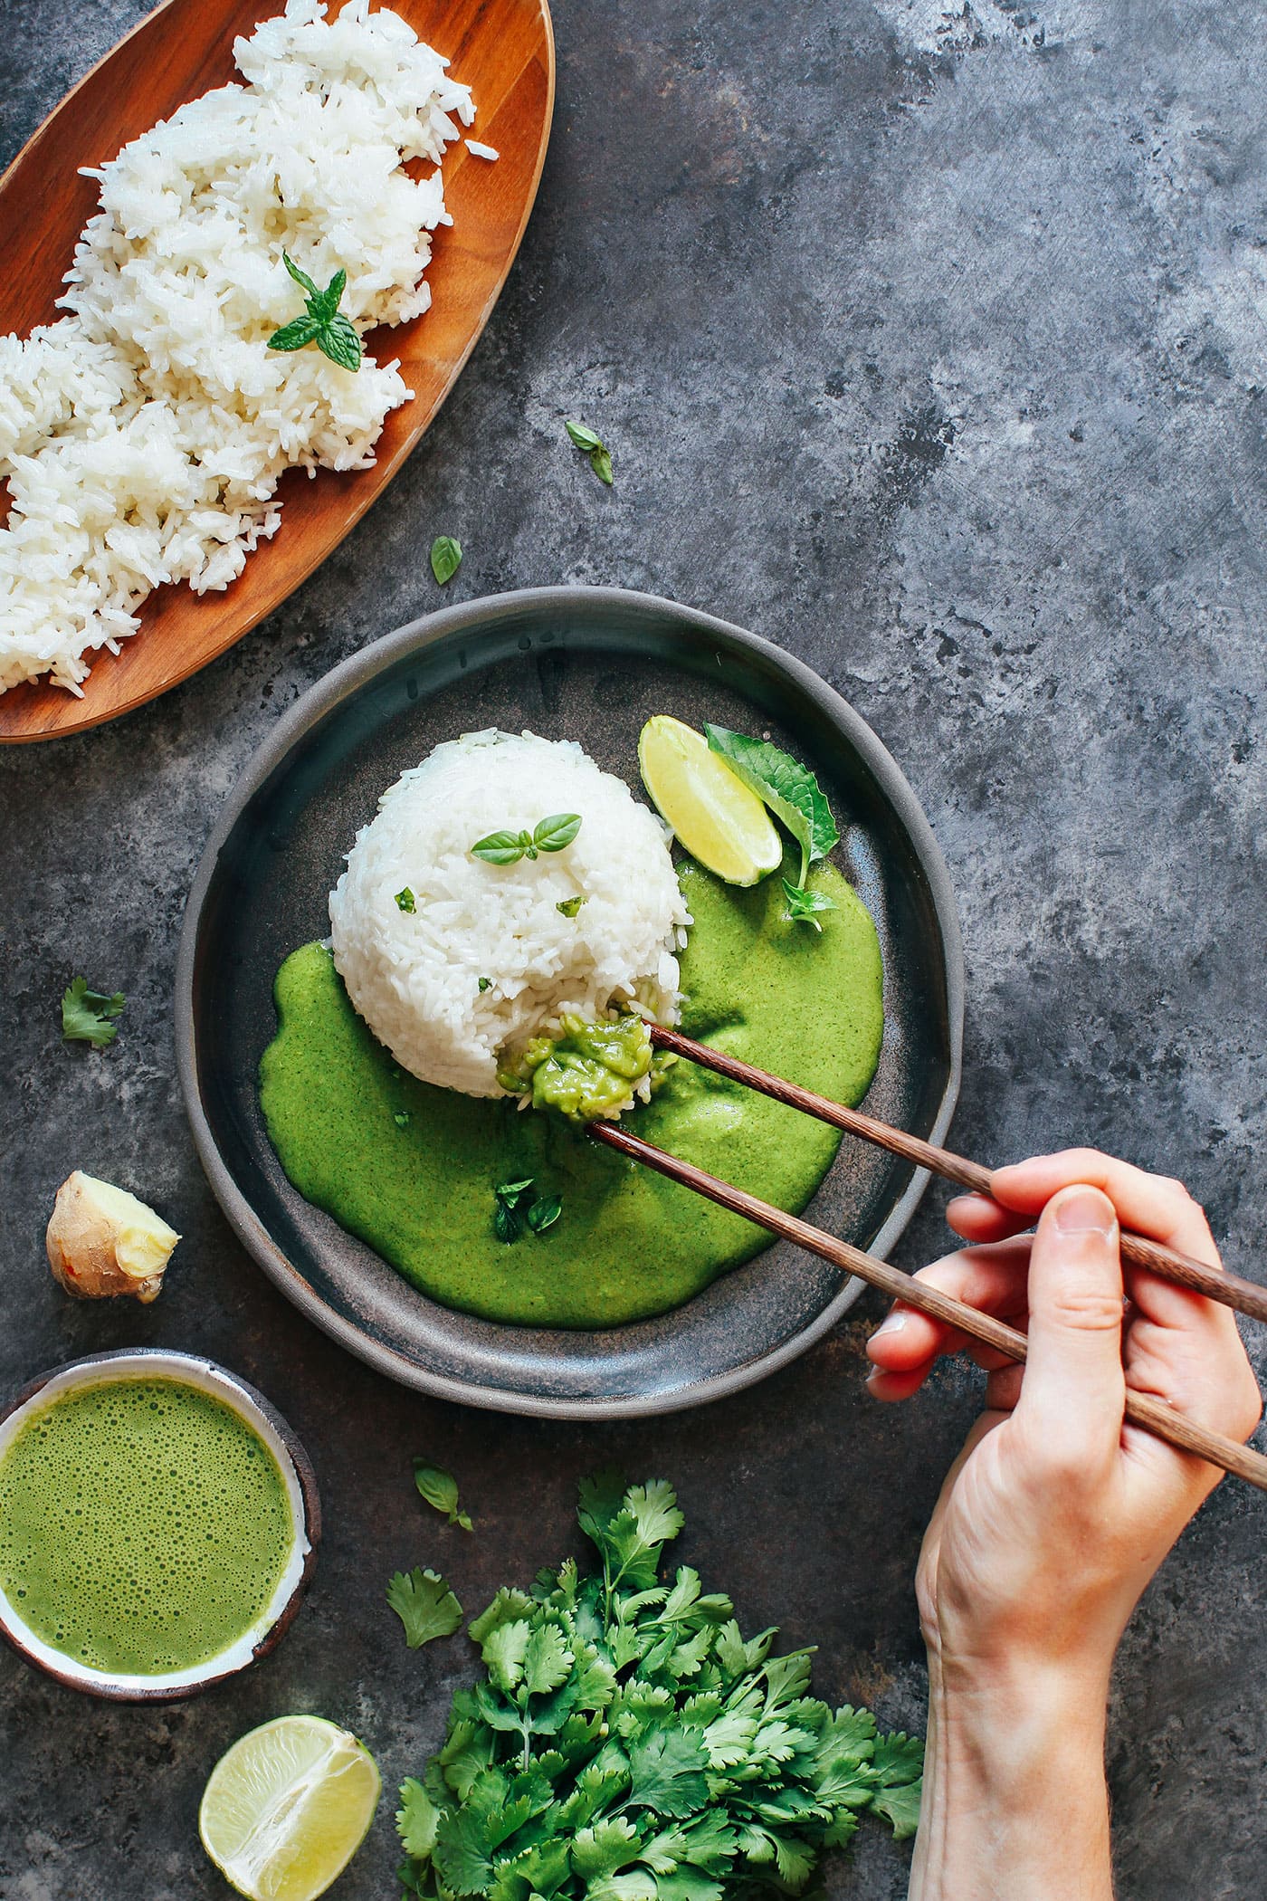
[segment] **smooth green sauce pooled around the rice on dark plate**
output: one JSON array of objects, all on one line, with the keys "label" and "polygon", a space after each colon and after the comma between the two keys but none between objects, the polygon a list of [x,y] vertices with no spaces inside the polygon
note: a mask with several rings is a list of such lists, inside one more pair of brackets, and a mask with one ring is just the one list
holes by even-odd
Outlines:
[{"label": "smooth green sauce pooled around the rice on dark plate", "polygon": [[[783,922],[779,878],[752,890],[680,867],[695,918],[682,1028],[838,1103],[859,1103],[883,1034],[876,928],[830,867],[823,935]],[[538,1327],[612,1327],[680,1306],[769,1245],[764,1230],[591,1143],[557,1114],[435,1089],[361,1023],[329,950],[277,973],[279,1028],[260,1101],[298,1192],[444,1306]],[[686,1162],[800,1211],[840,1137],[693,1063],[669,1070],[631,1127]],[[492,1230],[498,1182],[532,1177],[562,1217],[513,1245]]]}]

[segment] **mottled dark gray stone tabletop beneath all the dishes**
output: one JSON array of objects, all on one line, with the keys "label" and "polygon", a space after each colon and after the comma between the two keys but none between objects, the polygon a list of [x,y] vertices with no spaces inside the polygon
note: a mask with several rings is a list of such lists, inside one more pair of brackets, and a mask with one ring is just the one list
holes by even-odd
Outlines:
[{"label": "mottled dark gray stone tabletop beneath all the dishes", "polygon": [[[0,158],[142,11],[0,0]],[[1263,1272],[1263,23],[1214,0],[560,0],[534,222],[397,483],[207,673],[0,755],[0,1390],[110,1342],[205,1348],[294,1420],[329,1519],[304,1616],[239,1686],[146,1715],[0,1660],[4,1901],[222,1893],[203,1777],[279,1711],[350,1722],[389,1785],[414,1770],[463,1660],[403,1652],[386,1574],[439,1563],[477,1604],[562,1549],[577,1473],[612,1454],[678,1481],[691,1557],[750,1623],[817,1639],[826,1692],[921,1722],[910,1580],[967,1380],[881,1414],[855,1321],[705,1414],[431,1405],[302,1323],[203,1186],[171,1047],[184,890],[281,707],[435,605],[433,532],[465,547],[450,599],[619,582],[817,665],[906,768],[959,890],[959,1146],[1087,1137],[1182,1173],[1229,1262]],[[564,414],[614,445],[614,492]],[[59,1044],[76,970],[129,994],[104,1055]],[[53,1287],[42,1226],[74,1163],[184,1230],[156,1308]],[[902,1262],[942,1251],[940,1205]],[[410,1507],[420,1449],[462,1475],[477,1538]],[[1132,1901],[1261,1891],[1265,1523],[1223,1487],[1128,1633]],[[389,1895],[391,1867],[386,1802],[336,1893]],[[828,1886],[898,1897],[904,1852],[868,1833]]]}]

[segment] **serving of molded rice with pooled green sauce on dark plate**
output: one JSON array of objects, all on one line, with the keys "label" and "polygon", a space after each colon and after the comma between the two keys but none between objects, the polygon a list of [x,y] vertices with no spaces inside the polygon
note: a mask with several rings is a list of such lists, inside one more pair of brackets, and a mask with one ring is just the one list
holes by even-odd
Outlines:
[{"label": "serving of molded rice with pooled green sauce on dark plate", "polygon": [[[435,797],[418,802],[427,779]],[[669,842],[576,745],[437,747],[359,835],[332,950],[304,945],[281,966],[260,1065],[277,1156],[306,1200],[446,1306],[619,1325],[769,1245],[589,1143],[576,1123],[596,1114],[636,1104],[648,1141],[779,1207],[809,1201],[838,1133],[697,1065],[665,1066],[644,1015],[836,1101],[866,1093],[883,971],[849,882],[802,852],[792,876],[737,888],[693,859],[674,871]],[[813,893],[813,914],[788,890]]]}]

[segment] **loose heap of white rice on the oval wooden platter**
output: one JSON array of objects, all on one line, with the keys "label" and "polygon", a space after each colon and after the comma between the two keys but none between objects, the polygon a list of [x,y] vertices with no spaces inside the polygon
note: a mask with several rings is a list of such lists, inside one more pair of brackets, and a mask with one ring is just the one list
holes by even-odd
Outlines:
[{"label": "loose heap of white rice on the oval wooden platter", "polygon": [[452,222],[439,163],[475,108],[446,61],[369,0],[329,21],[289,0],[234,44],[247,82],[182,106],[101,171],[101,211],[59,323],[0,338],[0,692],[137,629],[160,582],[228,587],[277,528],[291,464],[357,470],[412,394],[395,363],[344,371],[268,338],[302,316],[281,253],[357,329],[431,302],[429,232]]}]

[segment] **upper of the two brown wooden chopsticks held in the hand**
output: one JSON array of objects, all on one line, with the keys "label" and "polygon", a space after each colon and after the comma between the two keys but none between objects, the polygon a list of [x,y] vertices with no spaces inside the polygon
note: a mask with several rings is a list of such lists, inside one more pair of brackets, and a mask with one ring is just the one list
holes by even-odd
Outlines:
[{"label": "upper of the two brown wooden chopsticks held in the hand", "polygon": [[[967,1162],[948,1148],[935,1148],[933,1143],[923,1143],[917,1135],[893,1129],[887,1122],[876,1122],[874,1116],[864,1116],[857,1108],[832,1103],[830,1097],[815,1095],[813,1089],[802,1089],[794,1082],[785,1082],[783,1076],[769,1076],[766,1070],[754,1068],[752,1063],[741,1063],[720,1049],[710,1049],[709,1044],[697,1044],[690,1036],[682,1036],[680,1030],[665,1030],[657,1023],[648,1025],[648,1028],[652,1042],[659,1049],[672,1049],[674,1055],[686,1057],[688,1063],[699,1063],[701,1068],[710,1068],[718,1076],[743,1082],[748,1089],[758,1089],[762,1095],[771,1095],[777,1103],[786,1103],[788,1108],[802,1108],[807,1116],[817,1116],[819,1122],[830,1122],[836,1129],[860,1135],[864,1143],[874,1143],[876,1148],[887,1148],[889,1154],[902,1156],[904,1162],[914,1162],[916,1167],[929,1169],[933,1175],[944,1175],[946,1181],[993,1200],[990,1194],[992,1171],[984,1169],[978,1162]],[[1012,1209],[1007,1213],[1012,1213]],[[1189,1287],[1208,1300],[1220,1300],[1223,1306],[1237,1308],[1239,1314],[1248,1314],[1250,1319],[1267,1321],[1267,1287],[1259,1287],[1258,1281],[1246,1281],[1239,1274],[1223,1274],[1220,1268],[1206,1266],[1204,1260],[1193,1260],[1191,1255],[1180,1255],[1176,1249],[1163,1247],[1161,1241],[1149,1241],[1144,1234],[1130,1234],[1126,1228],[1123,1230],[1123,1258],[1134,1262],[1138,1268],[1149,1268],[1164,1281]]]}]

